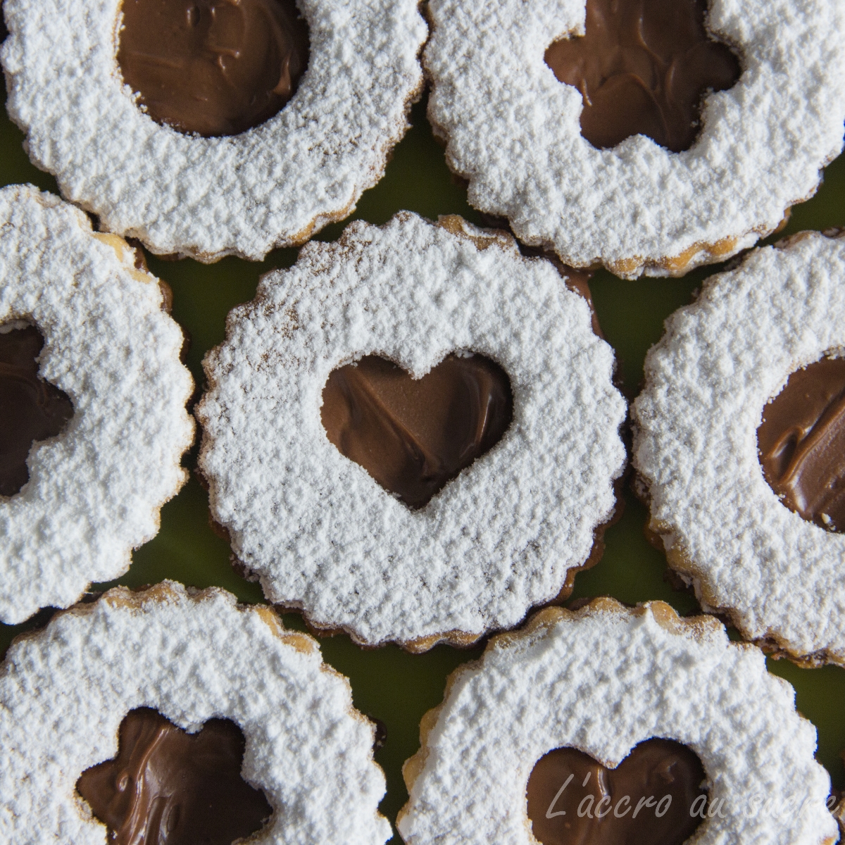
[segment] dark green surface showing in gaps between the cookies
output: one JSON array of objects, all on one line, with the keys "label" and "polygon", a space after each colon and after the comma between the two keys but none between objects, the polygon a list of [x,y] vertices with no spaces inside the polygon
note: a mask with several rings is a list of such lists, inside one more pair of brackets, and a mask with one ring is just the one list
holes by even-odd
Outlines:
[{"label": "dark green surface showing in gaps between the cookies", "polygon": [[[363,194],[350,219],[381,224],[396,211],[417,211],[431,219],[438,215],[459,214],[480,223],[475,210],[466,204],[466,191],[455,183],[445,165],[444,152],[433,139],[425,117],[426,96],[412,110],[412,128],[398,144],[384,178]],[[51,176],[30,164],[22,148],[23,134],[3,111],[0,122],[0,179],[3,184],[29,182],[57,192]],[[328,226],[319,239],[339,237],[346,222]],[[845,226],[845,156],[829,166],[825,181],[810,202],[796,207],[789,224],[778,237],[804,229],[824,230]],[[259,277],[275,267],[287,267],[297,259],[296,249],[271,253],[260,264],[227,258],[204,265],[185,259],[171,262],[147,254],[150,270],[167,281],[173,290],[173,317],[188,331],[191,346],[188,367],[198,385],[203,384],[202,359],[212,346],[223,340],[226,313],[254,296]],[[622,389],[629,399],[637,394],[643,377],[643,360],[649,347],[659,340],[663,320],[676,308],[690,303],[701,281],[719,270],[719,265],[695,270],[683,279],[643,279],[623,281],[606,271],[591,281],[599,322],[616,351]],[[192,471],[197,446],[185,457]],[[575,578],[572,600],[609,595],[623,602],[662,599],[679,613],[695,613],[698,604],[687,592],[674,591],[664,580],[666,560],[643,535],[647,512],[624,489],[624,514],[608,529],[607,550],[593,569]],[[256,584],[248,583],[232,570],[230,549],[211,531],[208,499],[192,473],[191,480],[175,499],[161,510],[161,532],[135,551],[127,574],[113,584],[136,587],[172,578],[185,584],[222,586],[243,602],[261,602]],[[5,653],[15,635],[43,624],[41,612],[28,623],[15,627],[0,625],[0,652]],[[288,627],[305,630],[303,620],[286,613]],[[735,632],[732,632],[736,636]],[[387,742],[376,751],[376,760],[387,777],[387,793],[382,812],[395,820],[407,799],[401,766],[418,747],[420,718],[442,699],[446,676],[459,664],[477,658],[483,642],[467,650],[437,646],[423,655],[411,655],[396,646],[365,650],[346,635],[320,641],[324,659],[352,683],[352,694],[359,710],[384,722]],[[771,672],[793,684],[799,711],[818,728],[819,760],[831,772],[834,786],[845,785],[840,751],[845,749],[845,716],[841,702],[845,694],[845,671],[837,667],[798,668],[782,660],[769,660]],[[394,842],[401,842],[398,836]]]}]

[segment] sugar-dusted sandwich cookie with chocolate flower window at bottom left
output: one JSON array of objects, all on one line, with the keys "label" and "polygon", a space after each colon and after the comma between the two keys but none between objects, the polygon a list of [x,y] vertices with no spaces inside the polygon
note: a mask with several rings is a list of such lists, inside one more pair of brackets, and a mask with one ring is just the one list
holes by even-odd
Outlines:
[{"label": "sugar-dusted sandwich cookie with chocolate flower window at bottom left", "polygon": [[0,676],[0,837],[383,845],[374,725],[308,635],[217,587],[123,587]]}]

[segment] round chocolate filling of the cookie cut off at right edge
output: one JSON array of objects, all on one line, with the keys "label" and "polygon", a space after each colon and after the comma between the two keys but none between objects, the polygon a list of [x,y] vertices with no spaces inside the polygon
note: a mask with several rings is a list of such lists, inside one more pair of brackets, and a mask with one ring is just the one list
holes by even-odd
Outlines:
[{"label": "round chocolate filling of the cookie cut off at right edge", "polygon": [[845,532],[845,358],[789,376],[757,429],[763,475],[789,510]]}]

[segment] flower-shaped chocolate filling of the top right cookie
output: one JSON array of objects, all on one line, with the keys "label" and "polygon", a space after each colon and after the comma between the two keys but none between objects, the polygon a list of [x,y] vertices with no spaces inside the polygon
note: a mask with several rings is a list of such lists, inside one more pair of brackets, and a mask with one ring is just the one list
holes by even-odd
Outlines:
[{"label": "flower-shaped chocolate filling of the top right cookie", "polygon": [[599,149],[643,134],[689,150],[707,90],[739,79],[704,28],[706,0],[587,0],[586,35],[555,41],[546,63],[584,98],[581,134]]}]

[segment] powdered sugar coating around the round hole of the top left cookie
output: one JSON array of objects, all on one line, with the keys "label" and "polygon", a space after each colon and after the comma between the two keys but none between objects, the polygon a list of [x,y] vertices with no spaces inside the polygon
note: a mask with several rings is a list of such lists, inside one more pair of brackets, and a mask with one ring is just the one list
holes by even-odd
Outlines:
[{"label": "powdered sugar coating around the round hole of the top left cookie", "polygon": [[135,105],[117,68],[120,2],[3,4],[8,112],[32,161],[107,231],[158,254],[262,259],[379,181],[422,86],[417,0],[297,0],[311,49],[296,95],[228,138],[181,134]]}]

